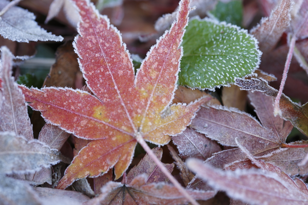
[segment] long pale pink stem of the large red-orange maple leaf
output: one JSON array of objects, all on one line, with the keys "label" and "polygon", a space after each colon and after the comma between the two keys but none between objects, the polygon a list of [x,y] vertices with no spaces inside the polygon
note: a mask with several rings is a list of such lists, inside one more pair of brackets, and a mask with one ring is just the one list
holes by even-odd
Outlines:
[{"label": "long pale pink stem of the large red-orange maple leaf", "polygon": [[136,136],[137,142],[144,148],[144,150],[148,153],[148,155],[153,159],[153,161],[157,164],[160,170],[169,178],[169,180],[173,183],[173,185],[184,195],[186,199],[190,201],[193,205],[199,205],[195,199],[182,187],[182,185],[171,175],[171,173],[166,169],[166,167],[161,163],[161,161],[156,157],[156,155],[152,152],[151,148],[144,141],[141,135]]}]

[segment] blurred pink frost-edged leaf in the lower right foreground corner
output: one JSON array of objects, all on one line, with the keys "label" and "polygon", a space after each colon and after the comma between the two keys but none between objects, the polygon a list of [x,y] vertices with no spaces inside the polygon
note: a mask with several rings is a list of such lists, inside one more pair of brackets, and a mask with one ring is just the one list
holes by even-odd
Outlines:
[{"label": "blurred pink frost-edged leaf in the lower right foreground corner", "polygon": [[253,204],[308,203],[308,190],[302,189],[305,184],[297,186],[288,175],[277,169],[273,170],[275,172],[255,169],[221,171],[197,159],[189,159],[187,165],[211,186],[226,191],[234,199]]}]

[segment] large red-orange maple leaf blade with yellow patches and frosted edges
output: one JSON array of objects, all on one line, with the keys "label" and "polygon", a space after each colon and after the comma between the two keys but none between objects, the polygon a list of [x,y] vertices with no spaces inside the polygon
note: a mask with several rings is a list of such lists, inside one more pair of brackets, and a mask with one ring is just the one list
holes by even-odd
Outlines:
[{"label": "large red-orange maple leaf blade with yellow patches and frosted edges", "polygon": [[169,106],[176,90],[189,0],[180,3],[177,21],[151,48],[136,77],[119,31],[89,1],[74,2],[81,16],[75,50],[94,95],[69,88],[23,87],[26,101],[47,122],[94,140],[74,158],[59,189],[113,166],[118,179],[131,163],[137,142],[168,143],[169,135],[183,131],[206,101]]}]

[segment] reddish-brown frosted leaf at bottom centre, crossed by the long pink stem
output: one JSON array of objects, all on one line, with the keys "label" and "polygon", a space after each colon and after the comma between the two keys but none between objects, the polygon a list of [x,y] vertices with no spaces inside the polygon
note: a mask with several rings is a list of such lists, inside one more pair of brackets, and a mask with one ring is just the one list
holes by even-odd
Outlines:
[{"label": "reddish-brown frosted leaf at bottom centre, crossed by the long pink stem", "polygon": [[[160,182],[145,184],[146,175],[138,175],[133,181],[123,186],[109,182],[102,188],[101,204],[188,204],[188,200],[171,184]],[[212,198],[216,191],[186,190],[196,200]],[[107,194],[108,193],[108,194]],[[92,199],[96,201],[96,199]],[[91,201],[89,201],[90,204]],[[92,204],[92,203],[91,203]]]}]

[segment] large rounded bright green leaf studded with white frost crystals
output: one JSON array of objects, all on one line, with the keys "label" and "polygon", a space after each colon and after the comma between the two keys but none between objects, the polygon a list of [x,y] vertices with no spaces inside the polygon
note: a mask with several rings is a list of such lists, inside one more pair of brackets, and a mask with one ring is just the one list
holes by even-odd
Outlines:
[{"label": "large rounded bright green leaf studded with white frost crystals", "polygon": [[188,23],[180,85],[214,90],[252,74],[260,64],[257,40],[247,30],[209,18]]}]

